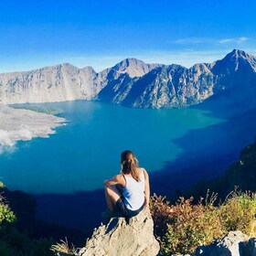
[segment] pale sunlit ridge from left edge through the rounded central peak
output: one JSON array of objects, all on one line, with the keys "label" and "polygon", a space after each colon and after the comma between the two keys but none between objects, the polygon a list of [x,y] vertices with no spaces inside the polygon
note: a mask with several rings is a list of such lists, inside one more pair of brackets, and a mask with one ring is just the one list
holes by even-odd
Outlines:
[{"label": "pale sunlit ridge from left edge through the rounded central peak", "polygon": [[91,67],[78,69],[69,63],[26,72],[0,74],[0,102],[4,104],[91,100],[120,76],[143,76],[158,64],[124,59],[96,73]]}]

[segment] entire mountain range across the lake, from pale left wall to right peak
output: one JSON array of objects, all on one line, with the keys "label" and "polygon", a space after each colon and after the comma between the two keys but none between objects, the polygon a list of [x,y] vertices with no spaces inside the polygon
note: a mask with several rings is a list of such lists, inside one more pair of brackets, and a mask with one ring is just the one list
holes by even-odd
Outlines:
[{"label": "entire mountain range across the lake, from pale left wall to right peak", "polygon": [[256,58],[234,49],[213,63],[190,69],[124,59],[96,73],[70,64],[0,74],[2,103],[91,100],[137,108],[215,105],[256,107]]}]

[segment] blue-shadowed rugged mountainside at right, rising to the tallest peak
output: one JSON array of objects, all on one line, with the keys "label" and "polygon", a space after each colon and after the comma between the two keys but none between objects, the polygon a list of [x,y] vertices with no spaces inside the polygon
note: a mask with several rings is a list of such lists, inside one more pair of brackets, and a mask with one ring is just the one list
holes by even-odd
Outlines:
[{"label": "blue-shadowed rugged mountainside at right, rising to the tallest peak", "polygon": [[211,64],[196,64],[190,69],[162,66],[130,81],[128,87],[126,80],[118,84],[118,91],[115,85],[109,84],[108,90],[100,92],[99,99],[130,107],[180,108],[221,95],[219,101],[255,106],[256,59],[234,49],[224,59]]}]

